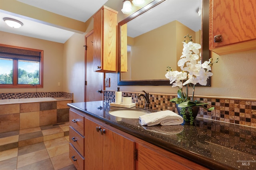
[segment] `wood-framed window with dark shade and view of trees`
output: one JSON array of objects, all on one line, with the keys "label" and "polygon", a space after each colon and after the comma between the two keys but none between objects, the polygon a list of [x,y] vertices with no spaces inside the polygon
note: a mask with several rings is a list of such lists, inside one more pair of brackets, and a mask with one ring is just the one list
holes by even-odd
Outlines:
[{"label": "wood-framed window with dark shade and view of trees", "polygon": [[43,51],[0,44],[2,87],[43,87]]}]

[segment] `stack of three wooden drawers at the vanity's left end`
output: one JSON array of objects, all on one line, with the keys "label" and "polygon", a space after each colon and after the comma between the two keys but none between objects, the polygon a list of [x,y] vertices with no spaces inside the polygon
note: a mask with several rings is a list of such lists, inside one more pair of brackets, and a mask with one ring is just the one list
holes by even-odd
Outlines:
[{"label": "stack of three wooden drawers at the vanity's left end", "polygon": [[69,111],[69,158],[77,170],[84,169],[84,117]]}]

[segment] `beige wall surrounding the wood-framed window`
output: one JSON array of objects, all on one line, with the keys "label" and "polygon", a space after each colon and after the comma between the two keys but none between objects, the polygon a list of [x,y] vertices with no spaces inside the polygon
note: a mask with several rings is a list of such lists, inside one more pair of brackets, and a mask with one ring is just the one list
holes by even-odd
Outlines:
[{"label": "beige wall surrounding the wood-framed window", "polygon": [[[44,50],[43,88],[0,88],[0,93],[63,91],[63,43],[50,42],[0,31],[0,43]],[[61,86],[58,86],[58,82]]]}]

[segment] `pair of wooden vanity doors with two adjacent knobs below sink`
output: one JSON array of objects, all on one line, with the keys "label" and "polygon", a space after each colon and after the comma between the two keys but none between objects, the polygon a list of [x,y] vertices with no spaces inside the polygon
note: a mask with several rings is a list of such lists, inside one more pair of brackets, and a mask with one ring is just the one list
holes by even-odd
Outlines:
[{"label": "pair of wooden vanity doors with two adjacent knobs below sink", "polygon": [[84,118],[86,170],[134,170],[134,142]]}]

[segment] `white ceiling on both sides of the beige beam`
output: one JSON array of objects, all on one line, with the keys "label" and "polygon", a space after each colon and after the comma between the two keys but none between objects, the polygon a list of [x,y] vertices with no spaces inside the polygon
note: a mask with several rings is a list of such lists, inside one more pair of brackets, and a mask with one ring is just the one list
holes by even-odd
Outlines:
[{"label": "white ceiling on both sides of the beige beam", "polygon": [[[0,0],[0,7],[1,3],[8,3],[7,1],[13,2],[14,4],[21,2],[73,20],[86,22],[108,0],[47,0],[47,2],[46,0]],[[10,5],[12,4],[10,3]],[[5,17],[19,20],[24,25],[20,28],[11,28],[2,20],[2,18]],[[60,28],[59,26],[42,22],[41,20],[32,17],[2,10],[2,8],[0,9],[0,18],[0,31],[12,34],[19,34],[59,43],[65,43],[66,40],[74,34],[74,30],[63,27]]]}]

